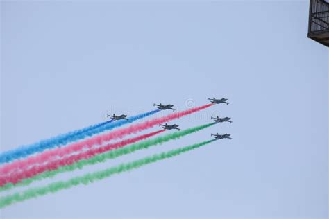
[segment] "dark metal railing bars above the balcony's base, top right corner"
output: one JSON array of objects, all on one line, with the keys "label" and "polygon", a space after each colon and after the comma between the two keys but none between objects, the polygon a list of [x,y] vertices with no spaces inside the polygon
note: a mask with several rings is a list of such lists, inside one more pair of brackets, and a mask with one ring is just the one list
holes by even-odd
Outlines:
[{"label": "dark metal railing bars above the balcony's base, top right corner", "polygon": [[308,33],[329,31],[329,3],[323,0],[310,0]]}]

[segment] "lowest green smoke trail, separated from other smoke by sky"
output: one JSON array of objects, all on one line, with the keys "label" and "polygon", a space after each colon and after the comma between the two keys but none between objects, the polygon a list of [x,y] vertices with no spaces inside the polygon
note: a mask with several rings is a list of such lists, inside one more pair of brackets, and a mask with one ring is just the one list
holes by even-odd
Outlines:
[{"label": "lowest green smoke trail, separated from other smoke by sky", "polygon": [[106,177],[110,177],[114,174],[119,174],[122,172],[126,172],[128,170],[133,170],[135,168],[140,168],[145,166],[146,164],[155,163],[156,161],[160,161],[162,159],[171,158],[177,155],[180,155],[184,152],[188,152],[189,150],[194,150],[196,148],[200,148],[205,146],[208,143],[215,141],[212,139],[210,141],[203,141],[201,143],[196,143],[192,146],[186,146],[184,148],[178,148],[176,150],[169,150],[168,152],[162,152],[158,155],[153,155],[149,157],[145,157],[144,159],[137,159],[136,161],[132,161],[126,164],[121,164],[119,166],[115,166],[112,168],[107,168],[106,170],[98,171],[95,173],[89,173],[83,175],[81,177],[74,177],[67,181],[60,181],[48,184],[47,186],[37,187],[35,189],[27,189],[23,193],[14,193],[13,195],[7,195],[3,198],[0,198],[0,208],[6,207],[10,204],[15,204],[17,202],[22,202],[24,200],[28,200],[31,198],[36,198],[38,196],[47,195],[47,193],[56,193],[62,189],[69,189],[72,186],[77,186],[78,184],[90,184],[96,180],[101,180]]}]

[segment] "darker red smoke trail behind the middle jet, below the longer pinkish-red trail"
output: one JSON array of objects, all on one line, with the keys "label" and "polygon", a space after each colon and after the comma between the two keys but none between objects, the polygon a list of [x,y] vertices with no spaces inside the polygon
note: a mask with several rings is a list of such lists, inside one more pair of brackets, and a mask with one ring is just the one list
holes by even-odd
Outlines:
[{"label": "darker red smoke trail behind the middle jet, below the longer pinkish-red trail", "polygon": [[76,155],[71,155],[69,157],[63,157],[62,159],[57,159],[50,161],[48,163],[45,163],[44,165],[37,165],[33,166],[32,168],[29,168],[28,170],[24,170],[22,172],[17,172],[10,174],[9,176],[0,177],[0,186],[3,186],[4,184],[7,184],[9,182],[16,184],[17,182],[22,181],[22,179],[26,179],[29,177],[34,177],[37,174],[43,173],[44,171],[48,170],[56,170],[60,166],[67,166],[74,164],[76,161],[79,161],[81,159],[89,159],[90,157],[94,157],[95,155],[99,155],[103,152],[107,152],[109,150],[113,150],[116,148],[124,147],[130,143],[135,143],[137,141],[141,141],[143,139],[147,139],[149,137],[153,137],[155,134],[160,134],[161,132],[165,132],[165,130],[160,130],[156,132],[151,132],[148,134],[143,134],[138,137],[134,137],[131,139],[126,139],[124,141],[119,141],[116,143],[110,143],[106,146],[100,147],[100,148],[93,148],[91,150],[83,151]]}]

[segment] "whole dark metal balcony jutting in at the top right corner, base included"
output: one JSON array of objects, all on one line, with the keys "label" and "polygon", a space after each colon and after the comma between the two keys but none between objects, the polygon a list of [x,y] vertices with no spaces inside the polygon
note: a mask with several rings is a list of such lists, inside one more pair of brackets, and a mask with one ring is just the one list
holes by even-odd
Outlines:
[{"label": "whole dark metal balcony jutting in at the top right corner, base included", "polygon": [[310,17],[307,37],[329,47],[329,3],[310,0]]}]

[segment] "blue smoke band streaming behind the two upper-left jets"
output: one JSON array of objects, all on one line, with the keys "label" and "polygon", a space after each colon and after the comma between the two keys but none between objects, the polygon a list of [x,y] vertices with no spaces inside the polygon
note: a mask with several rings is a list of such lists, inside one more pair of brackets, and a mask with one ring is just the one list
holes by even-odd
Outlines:
[{"label": "blue smoke band streaming behind the two upper-left jets", "polygon": [[9,161],[13,161],[15,159],[27,157],[28,155],[33,155],[34,153],[42,152],[49,148],[60,147],[73,141],[92,137],[94,134],[99,134],[107,130],[112,130],[113,128],[117,128],[127,123],[133,123],[133,121],[143,119],[146,116],[151,116],[152,114],[155,114],[159,111],[160,109],[156,109],[151,112],[146,112],[144,114],[130,116],[128,120],[120,120],[114,122],[106,121],[97,125],[92,125],[89,128],[83,128],[75,132],[69,132],[68,134],[60,134],[58,137],[53,137],[51,139],[43,140],[27,146],[21,146],[14,150],[8,150],[0,154],[0,164],[8,163]]}]

